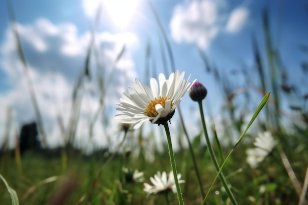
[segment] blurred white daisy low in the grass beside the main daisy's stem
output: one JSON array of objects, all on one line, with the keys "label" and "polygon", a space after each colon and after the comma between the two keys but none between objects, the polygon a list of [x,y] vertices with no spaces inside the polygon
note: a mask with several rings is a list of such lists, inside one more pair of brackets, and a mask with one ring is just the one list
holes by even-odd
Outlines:
[{"label": "blurred white daisy low in the grass beside the main daisy's stem", "polygon": [[[178,174],[178,180],[180,183],[185,183],[185,180],[181,179],[182,175]],[[168,193],[169,191],[173,191],[173,193],[177,193],[177,188],[174,181],[173,172],[171,171],[169,175],[167,176],[166,172],[160,172],[158,171],[157,174],[154,175],[154,177],[150,177],[151,182],[153,183],[153,186],[144,183],[144,191],[148,194],[162,194],[162,193]]]}]

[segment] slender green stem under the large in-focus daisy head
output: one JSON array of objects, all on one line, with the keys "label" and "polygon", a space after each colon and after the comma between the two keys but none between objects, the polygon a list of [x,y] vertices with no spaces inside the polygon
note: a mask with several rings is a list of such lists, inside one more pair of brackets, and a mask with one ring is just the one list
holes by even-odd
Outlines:
[{"label": "slender green stem under the large in-focus daisy head", "polygon": [[181,192],[181,188],[180,188],[180,184],[179,184],[179,180],[178,180],[177,168],[176,168],[176,165],[175,165],[175,159],[174,159],[174,154],[173,154],[173,149],[172,149],[172,143],[171,143],[168,121],[165,121],[162,124],[165,127],[165,131],[166,131],[166,135],[167,135],[170,163],[171,163],[171,168],[172,168],[172,172],[173,172],[173,176],[174,176],[175,185],[177,187],[177,195],[178,195],[179,204],[184,205],[183,196],[182,196],[182,192]]}]

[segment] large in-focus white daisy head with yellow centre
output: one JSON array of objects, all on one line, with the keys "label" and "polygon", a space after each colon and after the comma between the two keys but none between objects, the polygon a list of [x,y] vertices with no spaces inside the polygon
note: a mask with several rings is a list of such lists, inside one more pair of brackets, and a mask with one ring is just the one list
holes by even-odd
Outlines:
[{"label": "large in-focus white daisy head with yellow centre", "polygon": [[173,116],[176,107],[179,106],[183,96],[196,81],[188,83],[184,80],[185,72],[179,70],[171,73],[166,79],[164,74],[159,74],[159,90],[156,79],[151,78],[151,88],[143,85],[140,80],[128,88],[128,93],[117,103],[116,110],[121,114],[115,119],[121,119],[122,123],[130,123],[134,129],[139,128],[145,121],[150,120],[158,125],[169,120]]}]

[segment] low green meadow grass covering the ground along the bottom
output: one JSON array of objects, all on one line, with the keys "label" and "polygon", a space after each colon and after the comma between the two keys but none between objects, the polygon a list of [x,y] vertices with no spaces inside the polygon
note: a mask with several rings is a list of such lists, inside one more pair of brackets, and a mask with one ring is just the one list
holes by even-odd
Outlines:
[{"label": "low green meadow grass covering the ground along the bottom", "polygon": [[[286,135],[283,137],[293,136]],[[275,149],[272,155],[268,156],[256,170],[252,170],[246,165],[245,150],[247,146],[251,147],[250,144],[240,144],[224,167],[224,174],[232,185],[231,190],[238,203],[241,205],[297,205],[299,197],[281,163],[277,150]],[[282,144],[282,146],[288,145]],[[224,155],[231,148],[222,147]],[[303,182],[308,161],[306,149],[294,151],[296,147],[288,147],[286,150],[290,150],[290,152],[286,152],[286,155],[289,157],[298,180]],[[291,150],[293,151],[291,152]],[[53,196],[59,190],[65,190],[65,180],[74,181],[71,192],[65,196],[65,204],[75,205],[83,195],[89,193],[92,180],[107,159],[94,156],[84,157],[80,154],[76,155],[76,153],[67,156],[67,170],[65,171],[62,169],[61,158],[51,158],[38,152],[29,151],[22,157],[23,175],[18,174],[14,158],[9,158],[7,165],[1,167],[1,172],[8,184],[16,190],[21,205],[51,204]],[[186,180],[186,183],[182,184],[185,204],[200,205],[201,194],[198,189],[198,182],[194,174],[192,162],[189,160],[188,150],[181,149],[176,153],[175,157],[178,171],[184,175],[183,179]],[[216,176],[216,172],[207,152],[202,155],[197,154],[196,157],[201,180],[207,191]],[[121,171],[124,160],[125,157],[120,154],[111,161],[99,177],[93,192],[92,201],[87,203],[86,197],[82,204],[112,205],[120,203],[154,205],[165,203],[162,196],[150,195],[147,197],[147,194],[143,192],[142,183],[125,183]],[[154,176],[158,170],[167,172],[171,170],[167,151],[164,153],[156,152],[154,163],[144,160],[141,154],[137,160],[129,158],[128,165],[132,169],[143,171],[148,183],[150,182],[150,176]],[[234,172],[236,173],[233,174]],[[48,178],[50,181],[44,181]],[[215,184],[207,199],[207,204],[228,204],[227,195],[221,187],[219,182]],[[260,189],[263,191],[260,192]],[[216,194],[217,191],[219,192],[218,195]],[[9,194],[6,193],[6,188],[2,183],[0,184],[0,193],[0,202],[10,204]],[[175,194],[170,194],[169,198],[171,204],[177,204]]]}]

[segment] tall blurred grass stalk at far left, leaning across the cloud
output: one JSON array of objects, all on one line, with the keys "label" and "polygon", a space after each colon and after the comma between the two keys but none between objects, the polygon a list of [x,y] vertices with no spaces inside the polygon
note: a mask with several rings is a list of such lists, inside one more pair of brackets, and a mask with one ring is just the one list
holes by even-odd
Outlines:
[{"label": "tall blurred grass stalk at far left, leaning across the cloud", "polygon": [[34,113],[35,113],[36,120],[37,120],[38,130],[39,130],[39,133],[40,133],[41,139],[42,139],[42,144],[45,148],[48,148],[47,136],[46,136],[46,132],[44,130],[43,118],[42,118],[41,112],[39,110],[37,98],[36,98],[35,91],[34,91],[34,86],[33,86],[32,80],[31,80],[27,61],[25,59],[23,49],[22,49],[22,45],[21,45],[21,42],[20,42],[20,37],[19,37],[18,31],[17,31],[17,24],[16,24],[16,20],[15,20],[14,9],[13,9],[13,6],[12,6],[10,0],[7,0],[6,2],[7,2],[7,7],[8,7],[8,13],[9,13],[9,16],[10,16],[11,28],[12,28],[12,32],[13,32],[15,42],[16,42],[16,46],[17,46],[18,57],[23,64],[23,71],[24,71],[26,82],[27,82],[27,86],[29,88],[31,101],[32,101],[32,104],[33,104]]}]

